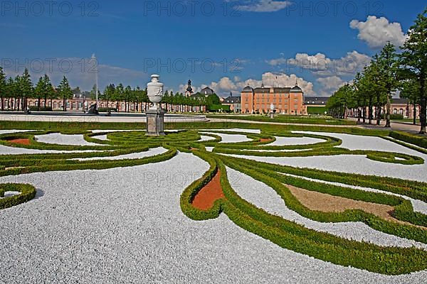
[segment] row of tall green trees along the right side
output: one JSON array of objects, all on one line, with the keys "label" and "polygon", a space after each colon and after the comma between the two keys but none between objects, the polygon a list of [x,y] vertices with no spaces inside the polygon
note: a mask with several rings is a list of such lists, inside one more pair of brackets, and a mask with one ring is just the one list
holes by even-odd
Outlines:
[{"label": "row of tall green trees along the right side", "polygon": [[[427,9],[417,16],[399,53],[393,44],[387,43],[370,64],[356,74],[352,84],[345,84],[330,97],[327,109],[332,116],[344,118],[348,109],[355,109],[359,122],[368,120],[371,124],[376,120],[379,125],[385,116],[386,127],[390,127],[391,99],[399,90],[400,97],[413,105],[413,124],[416,124],[416,107],[420,106],[420,133],[426,133],[426,13]],[[384,106],[385,114],[382,113]]]}]

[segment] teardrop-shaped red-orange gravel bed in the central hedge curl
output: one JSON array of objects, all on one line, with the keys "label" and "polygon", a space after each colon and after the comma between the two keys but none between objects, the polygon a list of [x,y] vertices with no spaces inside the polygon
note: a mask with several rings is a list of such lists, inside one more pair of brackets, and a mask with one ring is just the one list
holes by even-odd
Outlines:
[{"label": "teardrop-shaped red-orange gravel bed in the central hedge curl", "polygon": [[191,204],[197,209],[207,210],[214,206],[216,200],[224,198],[220,178],[221,172],[218,170],[214,178],[197,193]]}]

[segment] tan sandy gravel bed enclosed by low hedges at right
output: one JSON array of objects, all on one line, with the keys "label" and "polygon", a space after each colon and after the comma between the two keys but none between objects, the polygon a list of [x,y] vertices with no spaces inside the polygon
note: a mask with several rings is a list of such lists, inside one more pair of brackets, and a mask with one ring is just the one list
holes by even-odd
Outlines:
[{"label": "tan sandy gravel bed enclosed by low hedges at right", "polygon": [[[321,212],[344,212],[347,209],[360,209],[364,212],[371,213],[385,219],[390,222],[396,222],[399,224],[409,224],[416,226],[408,222],[400,221],[399,219],[391,216],[394,211],[394,207],[385,204],[376,204],[371,202],[364,202],[359,200],[351,200],[349,198],[327,195],[321,192],[315,192],[310,190],[304,190],[299,187],[292,185],[286,185],[289,188],[292,195],[301,202],[302,205],[310,210],[321,211]],[[417,226],[421,229],[427,229],[424,226]]]}]

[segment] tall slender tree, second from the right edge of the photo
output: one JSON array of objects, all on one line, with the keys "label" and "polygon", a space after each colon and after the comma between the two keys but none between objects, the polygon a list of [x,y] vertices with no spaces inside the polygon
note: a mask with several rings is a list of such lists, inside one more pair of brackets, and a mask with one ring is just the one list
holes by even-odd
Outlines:
[{"label": "tall slender tree, second from the right edge of the photo", "polygon": [[384,86],[387,99],[386,127],[390,127],[391,97],[393,96],[392,93],[399,87],[399,80],[397,80],[399,65],[396,48],[390,42],[381,50],[379,68],[381,72],[379,83]]}]

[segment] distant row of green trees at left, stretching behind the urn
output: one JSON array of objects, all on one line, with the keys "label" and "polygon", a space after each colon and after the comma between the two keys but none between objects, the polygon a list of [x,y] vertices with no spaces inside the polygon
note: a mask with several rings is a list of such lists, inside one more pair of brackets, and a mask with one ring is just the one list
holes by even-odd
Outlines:
[{"label": "distant row of green trees at left, stretching behind the urn", "polygon": [[[139,86],[132,88],[130,86],[125,87],[122,83],[117,84],[117,86],[109,84],[102,93],[99,90],[97,92],[98,99],[107,102],[107,109],[119,111],[120,102],[124,102],[124,109],[122,111],[130,111],[131,106],[132,109],[139,109],[140,111],[146,111],[149,107],[147,89],[141,89]],[[2,111],[4,111],[5,105],[12,106],[11,108],[8,107],[8,109],[17,111],[25,110],[28,107],[28,99],[37,99],[37,109],[39,111],[41,109],[46,110],[48,102],[53,106],[53,99],[62,99],[63,111],[66,111],[67,100],[73,99],[74,95],[79,93],[80,88],[71,89],[68,79],[65,76],[58,87],[53,87],[48,75],[40,77],[36,86],[33,86],[28,69],[24,70],[22,75],[7,78],[3,68],[0,66],[0,99]],[[86,93],[88,93],[90,99],[95,99],[96,86],[90,92]],[[115,108],[109,108],[112,102],[114,102]],[[191,111],[195,107],[199,110],[209,110],[213,105],[221,104],[216,94],[210,94],[208,97],[205,97],[204,94],[196,93],[191,97],[186,97],[180,92],[174,94],[172,91],[164,92],[161,103],[164,104],[166,109],[179,112]],[[144,107],[142,107],[143,105]]]}]

